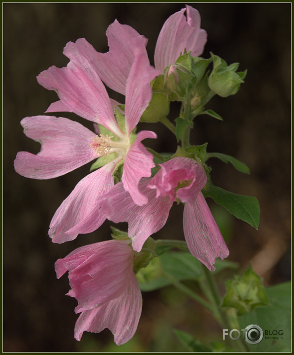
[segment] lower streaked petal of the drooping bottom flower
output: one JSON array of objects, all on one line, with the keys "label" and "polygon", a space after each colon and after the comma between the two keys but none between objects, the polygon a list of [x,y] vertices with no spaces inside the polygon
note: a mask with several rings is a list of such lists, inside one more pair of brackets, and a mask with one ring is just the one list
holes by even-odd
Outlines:
[{"label": "lower streaked petal of the drooping bottom flower", "polygon": [[118,298],[81,313],[75,324],[74,337],[80,340],[85,331],[99,333],[108,328],[114,334],[116,344],[124,344],[135,334],[141,312],[142,294],[133,274],[125,292]]}]

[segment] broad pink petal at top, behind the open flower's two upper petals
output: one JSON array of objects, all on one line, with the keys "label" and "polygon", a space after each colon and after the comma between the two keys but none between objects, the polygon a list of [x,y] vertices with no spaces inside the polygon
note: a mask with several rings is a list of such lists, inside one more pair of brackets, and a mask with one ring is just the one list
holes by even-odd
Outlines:
[{"label": "broad pink petal at top, behind the open flower's two upper petals", "polygon": [[134,40],[139,52],[148,60],[147,38],[141,36],[131,26],[115,20],[107,29],[109,52],[97,53],[96,70],[101,79],[111,89],[125,95],[125,85],[134,56]]}]

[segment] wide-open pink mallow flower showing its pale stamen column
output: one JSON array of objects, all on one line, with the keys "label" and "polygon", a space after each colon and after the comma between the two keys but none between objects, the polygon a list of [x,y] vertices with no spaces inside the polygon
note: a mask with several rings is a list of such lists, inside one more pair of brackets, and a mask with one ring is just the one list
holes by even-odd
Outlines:
[{"label": "wide-open pink mallow flower showing its pale stamen column", "polygon": [[[18,152],[14,161],[16,172],[33,179],[50,179],[72,171],[102,155],[114,153],[113,160],[83,178],[63,201],[55,213],[49,235],[54,242],[76,238],[77,233],[65,232],[81,221],[94,207],[99,196],[114,186],[113,173],[123,163],[122,182],[136,204],[146,204],[147,198],[139,191],[138,182],[151,175],[155,166],[153,155],[141,143],[156,138],[151,131],[132,133],[148,106],[152,90],[151,80],[157,71],[141,54],[141,46],[133,43],[133,62],[126,81],[125,127],[118,125],[113,102],[98,76],[92,51],[85,40],[67,43],[64,54],[70,59],[67,67],[51,67],[38,76],[38,81],[50,90],[56,90],[60,101],[47,112],[73,111],[107,128],[112,136],[97,136],[81,124],[66,118],[52,116],[26,117],[21,121],[24,133],[41,142],[38,154]],[[101,215],[99,223],[106,219]]]}]

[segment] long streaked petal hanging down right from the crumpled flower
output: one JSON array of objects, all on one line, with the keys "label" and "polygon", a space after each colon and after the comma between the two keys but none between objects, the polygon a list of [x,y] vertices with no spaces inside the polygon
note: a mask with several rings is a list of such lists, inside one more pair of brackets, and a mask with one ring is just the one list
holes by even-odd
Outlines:
[{"label": "long streaked petal hanging down right from the crumpled flower", "polygon": [[223,260],[229,255],[224,238],[201,192],[194,203],[185,204],[183,229],[190,252],[209,270],[215,270],[213,264],[216,258]]}]

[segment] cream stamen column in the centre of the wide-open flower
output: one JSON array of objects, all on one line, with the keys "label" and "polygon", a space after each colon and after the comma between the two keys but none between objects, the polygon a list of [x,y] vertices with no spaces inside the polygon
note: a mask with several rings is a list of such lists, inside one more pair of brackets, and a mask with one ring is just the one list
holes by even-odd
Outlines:
[{"label": "cream stamen column in the centre of the wide-open flower", "polygon": [[129,142],[127,140],[123,141],[112,141],[113,136],[99,135],[92,138],[91,147],[100,155],[108,155],[112,152],[120,153],[119,155],[125,155]]}]

